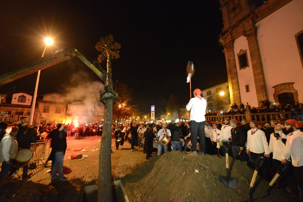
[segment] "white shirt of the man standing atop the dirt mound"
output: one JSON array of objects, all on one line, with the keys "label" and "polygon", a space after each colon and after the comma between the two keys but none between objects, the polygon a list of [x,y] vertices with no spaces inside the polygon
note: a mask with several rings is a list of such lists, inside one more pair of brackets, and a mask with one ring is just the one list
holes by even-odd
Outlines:
[{"label": "white shirt of the man standing atop the dirt mound", "polygon": [[186,105],[186,110],[190,112],[190,120],[195,122],[205,121],[206,100],[198,97],[191,98]]}]

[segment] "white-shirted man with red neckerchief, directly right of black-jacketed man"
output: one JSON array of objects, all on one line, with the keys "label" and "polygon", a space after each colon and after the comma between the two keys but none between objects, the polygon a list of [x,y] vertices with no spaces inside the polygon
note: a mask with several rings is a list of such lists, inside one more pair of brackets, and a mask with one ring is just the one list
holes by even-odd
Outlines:
[{"label": "white-shirted man with red neckerchief, directly right of black-jacketed man", "polygon": [[[251,121],[249,123],[251,130],[247,132],[246,151],[250,157],[250,160],[254,164],[253,166],[255,166],[258,157],[265,156],[266,158],[269,158],[270,156],[270,150],[268,147],[265,133],[257,128],[258,125],[259,122]],[[266,180],[270,180],[267,160],[263,162],[263,164],[261,165],[261,169],[263,172],[263,178],[265,178]]]}]

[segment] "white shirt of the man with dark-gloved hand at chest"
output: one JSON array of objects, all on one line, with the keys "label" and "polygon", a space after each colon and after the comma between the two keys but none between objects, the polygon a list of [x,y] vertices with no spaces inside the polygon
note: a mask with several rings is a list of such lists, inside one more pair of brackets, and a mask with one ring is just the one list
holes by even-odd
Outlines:
[{"label": "white shirt of the man with dark-gloved hand at chest", "polygon": [[[286,139],[286,135],[280,131],[278,132],[281,138]],[[269,140],[269,152],[272,152],[272,158],[281,161],[281,155],[285,144],[281,140],[275,138],[274,133],[271,133]]]}]

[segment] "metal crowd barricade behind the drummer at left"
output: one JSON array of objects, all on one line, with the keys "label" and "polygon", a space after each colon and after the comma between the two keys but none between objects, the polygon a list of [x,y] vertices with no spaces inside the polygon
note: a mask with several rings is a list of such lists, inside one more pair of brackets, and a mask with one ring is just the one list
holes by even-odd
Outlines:
[{"label": "metal crowd barricade behind the drummer at left", "polygon": [[48,159],[49,151],[50,151],[50,142],[46,142],[46,140],[38,140],[36,143],[31,143],[31,150],[33,152],[33,157],[29,161],[29,163],[39,164],[41,162],[44,166],[46,162],[43,160]]}]

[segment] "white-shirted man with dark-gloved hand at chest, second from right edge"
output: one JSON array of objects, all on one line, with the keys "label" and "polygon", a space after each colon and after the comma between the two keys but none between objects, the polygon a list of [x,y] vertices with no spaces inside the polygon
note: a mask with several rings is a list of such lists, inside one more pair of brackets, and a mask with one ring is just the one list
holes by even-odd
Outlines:
[{"label": "white-shirted man with dark-gloved hand at chest, second from right edge", "polygon": [[[276,123],[276,122],[275,122]],[[285,148],[285,143],[282,142],[282,139],[286,140],[286,135],[283,133],[281,125],[279,123],[275,124],[275,132],[271,133],[269,140],[269,150],[272,152],[272,159],[276,169],[276,172],[279,170],[282,162],[281,155],[283,149]],[[295,197],[299,196],[298,184],[295,180],[295,174],[292,169],[289,169],[287,174],[281,173],[281,176],[278,178],[277,182],[284,183],[285,179]]]}]

